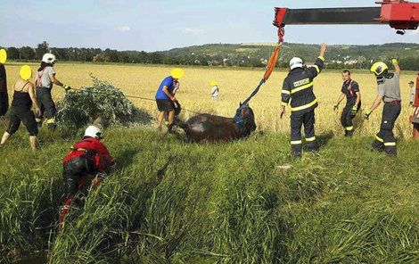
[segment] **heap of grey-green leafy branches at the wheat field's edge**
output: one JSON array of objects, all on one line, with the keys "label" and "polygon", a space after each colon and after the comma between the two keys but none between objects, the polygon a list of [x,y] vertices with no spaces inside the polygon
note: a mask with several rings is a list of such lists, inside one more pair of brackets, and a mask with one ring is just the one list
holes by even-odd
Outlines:
[{"label": "heap of grey-green leafy branches at the wheat field's edge", "polygon": [[78,129],[102,118],[106,125],[147,124],[152,117],[137,109],[118,87],[92,77],[93,87],[70,90],[57,103],[56,120],[64,128]]}]

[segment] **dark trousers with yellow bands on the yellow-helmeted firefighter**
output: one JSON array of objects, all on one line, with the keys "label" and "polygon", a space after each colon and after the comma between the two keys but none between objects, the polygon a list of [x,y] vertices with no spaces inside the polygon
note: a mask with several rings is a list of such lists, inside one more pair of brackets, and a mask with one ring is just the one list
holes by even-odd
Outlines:
[{"label": "dark trousers with yellow bands on the yellow-helmeted firefighter", "polygon": [[389,156],[397,155],[396,138],[394,137],[394,123],[401,111],[401,103],[385,103],[382,109],[382,124],[380,131],[375,136],[373,148],[385,151]]}]

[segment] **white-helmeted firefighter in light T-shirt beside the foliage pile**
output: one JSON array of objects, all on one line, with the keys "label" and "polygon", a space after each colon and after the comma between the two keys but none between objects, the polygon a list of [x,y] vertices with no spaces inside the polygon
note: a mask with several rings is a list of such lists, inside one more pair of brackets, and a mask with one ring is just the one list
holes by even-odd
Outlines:
[{"label": "white-helmeted firefighter in light T-shirt beside the foliage pile", "polygon": [[55,78],[55,70],[53,70],[55,61],[56,58],[53,54],[44,54],[41,66],[37,70],[37,78],[35,78],[37,103],[41,109],[40,114],[37,115],[37,126],[41,127],[45,118],[48,128],[52,131],[57,128],[55,124],[56,108],[55,103],[53,103],[53,97],[51,96],[53,85],[64,88],[66,92],[71,89],[71,87],[62,84],[61,81]]}]

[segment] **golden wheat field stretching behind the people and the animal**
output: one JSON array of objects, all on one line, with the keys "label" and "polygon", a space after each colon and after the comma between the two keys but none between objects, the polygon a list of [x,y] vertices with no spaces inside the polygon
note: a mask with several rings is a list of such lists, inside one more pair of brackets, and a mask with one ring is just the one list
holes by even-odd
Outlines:
[{"label": "golden wheat field stretching behind the people and the animal", "polygon": [[[37,70],[37,64],[30,64],[32,70]],[[12,95],[12,83],[19,77],[21,64],[6,65],[9,93]],[[70,87],[80,88],[91,86],[90,74],[114,84],[123,90],[125,95],[154,98],[155,91],[160,81],[167,77],[172,67],[148,65],[96,65],[96,64],[71,64],[57,63],[55,65],[56,77]],[[185,77],[182,78],[181,88],[177,99],[182,106],[191,111],[209,112],[222,116],[233,116],[239,103],[259,84],[264,70],[235,69],[235,68],[192,68],[185,67]],[[280,96],[283,78],[287,69],[275,69],[267,83],[262,86],[259,94],[251,100],[251,107],[255,112],[256,124],[259,130],[273,132],[289,132],[289,111],[286,118],[279,120]],[[362,109],[370,107],[375,98],[374,75],[367,70],[357,70],[352,73],[352,78],[357,80],[361,88]],[[398,118],[395,133],[398,137],[410,137],[411,128],[408,116],[412,110],[408,104],[408,81],[414,80],[415,72],[404,72],[400,78],[402,90],[402,112]],[[220,88],[218,101],[210,100],[211,80],[217,80]],[[341,72],[338,70],[324,70],[315,79],[315,94],[319,102],[316,109],[316,134],[332,132],[340,136],[343,130],[340,124],[341,103],[339,111],[333,111],[333,104],[340,95]],[[61,87],[53,88],[53,97],[59,99],[63,95]],[[131,99],[138,107],[156,116],[157,108],[152,101]],[[374,111],[370,120],[364,121],[358,114],[356,135],[372,136],[380,127],[382,106]],[[187,119],[193,116],[190,111],[183,111],[181,117]]]}]

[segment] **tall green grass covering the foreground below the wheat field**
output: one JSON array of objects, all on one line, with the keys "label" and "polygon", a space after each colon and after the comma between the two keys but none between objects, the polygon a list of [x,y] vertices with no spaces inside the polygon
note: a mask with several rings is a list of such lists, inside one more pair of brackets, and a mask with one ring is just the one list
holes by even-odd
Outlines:
[{"label": "tall green grass covering the foreground below the wheat field", "polygon": [[0,149],[0,262],[419,261],[419,142],[388,158],[369,150],[373,138],[324,135],[320,155],[295,161],[284,135],[198,145],[114,128],[104,143],[119,172],[58,234],[61,159],[79,135],[40,136],[37,153],[24,129]]}]

